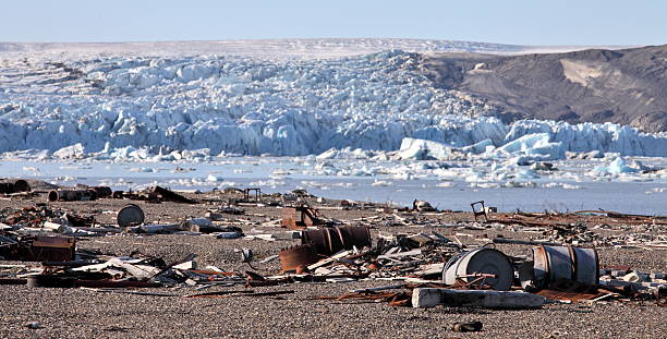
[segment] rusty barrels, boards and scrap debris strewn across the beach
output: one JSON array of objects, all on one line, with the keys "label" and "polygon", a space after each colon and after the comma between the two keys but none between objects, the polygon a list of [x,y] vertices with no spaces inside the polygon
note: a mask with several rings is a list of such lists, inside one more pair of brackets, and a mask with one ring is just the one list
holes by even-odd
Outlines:
[{"label": "rusty barrels, boards and scrap debris strewn across the beach", "polygon": [[[16,186],[14,183],[14,190]],[[21,185],[19,185],[21,186]],[[0,186],[3,187],[3,186]],[[28,187],[29,190],[29,187]],[[311,207],[305,192],[293,193],[301,205],[274,208],[274,216],[253,214],[246,208],[267,207],[268,199],[258,189],[237,192],[242,198],[194,201],[159,186],[138,194],[111,192],[109,187],[85,187],[48,192],[52,202],[93,201],[114,197],[147,203],[207,204],[195,216],[179,216],[178,221],[156,223],[147,220],[137,204],[125,204],[111,223],[99,223],[96,215],[83,217],[50,207],[45,203],[22,209],[0,211],[0,256],[3,259],[41,262],[0,266],[0,283],[25,283],[45,288],[88,288],[100,292],[126,292],[161,296],[172,293],[137,292],[136,288],[213,287],[246,289],[191,293],[187,298],[230,298],[234,295],[280,295],[291,290],[257,292],[247,288],[282,286],[294,282],[390,281],[384,287],[352,290],[327,300],[386,301],[393,306],[433,307],[437,305],[534,308],[546,303],[595,302],[602,300],[657,300],[664,304],[667,280],[663,273],[642,273],[630,267],[601,267],[597,247],[636,246],[655,251],[667,247],[664,230],[667,218],[623,215],[610,211],[575,214],[501,214],[483,201],[471,204],[468,221],[444,223],[426,202],[416,201],[413,208],[377,210],[373,216],[339,221],[324,217]],[[220,205],[219,203],[226,203]],[[294,203],[289,201],[290,204]],[[245,205],[244,205],[245,204]],[[51,204],[60,206],[58,204]],[[145,203],[142,206],[145,207]],[[149,205],[150,206],[150,205]],[[239,206],[244,206],[240,208]],[[265,213],[265,211],[263,211]],[[347,213],[347,211],[345,211]],[[267,213],[269,214],[269,213]],[[241,217],[242,216],[242,217]],[[251,221],[250,216],[255,217]],[[473,221],[474,219],[474,221]],[[257,221],[259,220],[259,221]],[[601,232],[603,226],[652,232]],[[245,230],[242,227],[252,227]],[[266,233],[255,227],[280,230]],[[421,231],[384,231],[411,227]],[[430,231],[423,228],[429,227]],[[284,228],[288,230],[286,231]],[[437,229],[435,231],[434,229]],[[484,234],[459,230],[484,231]],[[404,229],[402,229],[404,230]],[[440,230],[451,231],[447,237]],[[488,231],[535,234],[534,239],[511,239]],[[656,232],[657,230],[657,232]],[[246,235],[245,233],[248,233]],[[60,233],[53,235],[53,233]],[[252,270],[226,271],[215,266],[198,267],[196,255],[167,264],[159,257],[109,256],[76,251],[81,237],[119,234],[209,234],[217,239],[260,239],[291,241],[275,254],[256,261],[251,249],[243,247],[239,265]],[[64,234],[71,237],[63,237]],[[375,237],[374,237],[375,234]],[[471,235],[477,244],[464,244],[458,237]],[[298,244],[295,241],[299,240]],[[512,256],[495,244],[527,245],[525,255]],[[253,265],[279,259],[280,271],[267,274]],[[181,295],[182,296],[182,295]],[[457,331],[481,330],[481,323],[454,325]]]}]

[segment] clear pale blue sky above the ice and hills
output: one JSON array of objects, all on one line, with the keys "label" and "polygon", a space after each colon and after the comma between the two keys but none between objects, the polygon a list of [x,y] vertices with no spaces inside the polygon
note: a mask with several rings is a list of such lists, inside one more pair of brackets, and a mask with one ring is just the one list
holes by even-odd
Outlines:
[{"label": "clear pale blue sky above the ice and hills", "polygon": [[0,41],[424,38],[667,44],[664,0],[8,0]]}]

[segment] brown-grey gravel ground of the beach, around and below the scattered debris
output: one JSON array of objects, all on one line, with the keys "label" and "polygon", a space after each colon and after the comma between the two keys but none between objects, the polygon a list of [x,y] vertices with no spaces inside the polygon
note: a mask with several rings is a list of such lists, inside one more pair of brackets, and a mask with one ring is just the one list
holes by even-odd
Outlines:
[{"label": "brown-grey gravel ground of the beach, around and below the scattered debris", "polygon": [[[33,206],[40,197],[0,201],[0,208]],[[71,209],[78,215],[96,215],[98,222],[113,222],[114,214],[126,201],[50,203],[52,208]],[[173,222],[187,216],[203,216],[209,205],[174,203],[137,203],[148,221]],[[227,216],[245,220],[244,233],[279,233],[278,227],[264,227],[262,221],[276,220],[280,209],[244,207],[244,216]],[[372,217],[376,210],[323,210],[338,220]],[[383,234],[437,231],[448,237],[460,232],[452,226],[472,219],[470,213],[433,214],[437,226],[380,227],[372,229],[374,239]],[[230,221],[231,222],[231,221]],[[252,225],[256,222],[256,225]],[[621,233],[622,230],[601,232]],[[655,232],[660,232],[655,231]],[[502,235],[527,239],[531,233],[510,230],[465,230],[478,238]],[[483,244],[475,238],[460,238],[463,243]],[[109,255],[161,257],[165,262],[182,259],[196,253],[197,263],[214,265],[228,271],[253,270],[241,263],[235,250],[252,249],[260,259],[278,254],[281,249],[298,244],[291,241],[216,239],[209,235],[118,234],[81,238],[80,250]],[[526,254],[530,246],[499,244],[509,254]],[[667,270],[664,251],[632,247],[599,247],[601,267],[630,265],[641,271]],[[7,264],[9,262],[0,262]],[[16,264],[12,262],[11,264]],[[21,263],[34,264],[38,263]],[[278,261],[253,263],[257,273],[274,275],[280,270]],[[379,287],[392,281],[362,280],[353,282],[291,283],[252,288],[255,292],[293,291],[277,296],[228,296],[190,299],[183,295],[193,288],[160,288],[143,291],[172,296],[137,295],[98,292],[87,289],[51,289],[27,286],[0,286],[2,300],[0,338],[666,338],[667,308],[654,301],[609,301],[596,303],[547,304],[541,310],[502,311],[466,307],[412,308],[392,307],[387,303],[318,300],[353,289]],[[214,287],[206,291],[238,290],[243,287]],[[457,322],[480,320],[478,332],[454,332]],[[33,324],[32,324],[33,323]],[[32,324],[29,326],[29,324]],[[31,328],[33,327],[33,328]]]}]

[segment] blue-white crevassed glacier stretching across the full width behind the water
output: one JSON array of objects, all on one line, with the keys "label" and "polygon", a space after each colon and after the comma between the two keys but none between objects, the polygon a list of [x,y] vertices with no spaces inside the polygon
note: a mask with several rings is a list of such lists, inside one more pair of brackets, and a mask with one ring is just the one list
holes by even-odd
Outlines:
[{"label": "blue-white crevassed glacier stretching across the full width behind the water", "polygon": [[[422,56],[266,60],[239,56],[3,56],[0,152],[60,159],[563,159],[667,156],[667,135],[611,123],[521,120],[434,86]],[[344,152],[348,149],[348,152]],[[47,150],[48,155],[44,154]],[[352,152],[354,150],[354,152]]]}]

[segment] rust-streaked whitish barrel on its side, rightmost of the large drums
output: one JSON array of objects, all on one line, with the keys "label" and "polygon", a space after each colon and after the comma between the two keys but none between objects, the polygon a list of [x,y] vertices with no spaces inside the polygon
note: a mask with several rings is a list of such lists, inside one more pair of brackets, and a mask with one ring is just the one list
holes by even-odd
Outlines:
[{"label": "rust-streaked whitish barrel on its side, rightmost of the large drums", "polygon": [[551,283],[593,286],[599,282],[599,264],[595,249],[574,246],[533,247],[533,261],[519,268],[521,286],[539,290]]}]

